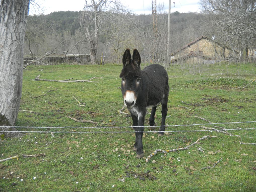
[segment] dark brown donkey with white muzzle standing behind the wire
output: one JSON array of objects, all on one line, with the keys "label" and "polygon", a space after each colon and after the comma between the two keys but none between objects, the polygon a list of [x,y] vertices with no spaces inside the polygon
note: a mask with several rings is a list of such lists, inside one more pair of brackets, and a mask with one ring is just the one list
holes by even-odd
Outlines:
[{"label": "dark brown donkey with white muzzle standing behind the wire", "polygon": [[136,151],[137,158],[144,156],[142,135],[147,108],[152,107],[149,124],[150,126],[156,126],[156,106],[161,102],[162,122],[158,136],[162,136],[165,131],[169,94],[168,74],[164,67],[158,64],[152,64],[141,70],[140,64],[141,57],[138,50],[133,50],[131,59],[130,49],[126,49],[123,55],[123,69],[120,74],[120,78],[122,79],[121,89],[124,105],[131,113],[132,126],[136,131],[133,150]]}]

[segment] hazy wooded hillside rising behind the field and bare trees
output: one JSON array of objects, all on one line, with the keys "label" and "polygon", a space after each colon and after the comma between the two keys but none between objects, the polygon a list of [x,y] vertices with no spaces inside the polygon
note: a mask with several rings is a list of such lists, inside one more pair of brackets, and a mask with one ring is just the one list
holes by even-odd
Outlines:
[{"label": "hazy wooded hillside rising behind the field and bare trees", "polygon": [[[89,45],[82,37],[80,31],[80,12],[60,11],[49,15],[29,16],[26,31],[25,54],[42,55],[58,47],[60,51],[71,49],[81,41],[72,53],[89,53]],[[105,55],[106,61],[120,62],[120,55],[125,48],[141,49],[144,61],[150,59],[149,46],[153,43],[152,15],[127,15],[123,22],[129,22],[130,26],[120,21],[109,21],[100,29],[98,57]],[[129,21],[128,21],[129,20]],[[200,21],[202,14],[179,13],[171,14],[171,51],[176,51],[188,42],[202,35]],[[168,14],[157,16],[157,33],[159,50],[164,51],[167,43]],[[111,28],[110,28],[111,26]],[[129,34],[130,33],[130,34]],[[127,35],[129,34],[129,35]],[[111,35],[113,35],[111,37]],[[111,38],[111,40],[110,40]],[[108,41],[111,42],[108,42]],[[64,42],[62,42],[64,41]],[[136,43],[135,43],[136,42]],[[140,44],[140,42],[142,42]],[[106,44],[109,43],[107,50]],[[105,53],[106,52],[106,53]]]}]

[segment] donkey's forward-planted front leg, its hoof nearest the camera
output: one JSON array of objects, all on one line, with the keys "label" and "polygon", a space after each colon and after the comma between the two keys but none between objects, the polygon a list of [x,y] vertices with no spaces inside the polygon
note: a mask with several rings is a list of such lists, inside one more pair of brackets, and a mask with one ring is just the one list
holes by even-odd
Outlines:
[{"label": "donkey's forward-planted front leg, its hoof nearest the camera", "polygon": [[135,143],[137,143],[136,158],[142,158],[144,156],[143,144],[142,144],[142,135],[144,131],[144,119],[145,119],[145,115],[139,116],[138,126],[137,126],[137,129],[135,129],[135,131],[138,131],[137,133],[135,133],[136,135]]}]

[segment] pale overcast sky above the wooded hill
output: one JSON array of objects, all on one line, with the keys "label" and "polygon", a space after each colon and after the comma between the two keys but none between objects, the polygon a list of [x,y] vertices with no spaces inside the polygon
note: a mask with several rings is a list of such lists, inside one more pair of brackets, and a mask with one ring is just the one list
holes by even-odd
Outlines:
[{"label": "pale overcast sky above the wooded hill", "polygon": [[[152,0],[120,0],[128,9],[135,14],[152,14]],[[175,7],[173,2],[175,1]],[[36,1],[43,9],[43,14],[47,15],[55,11],[80,11],[83,9],[85,0],[40,0]],[[89,2],[89,1],[88,1]],[[171,0],[171,13],[178,11],[180,13],[200,12],[199,0]],[[164,4],[168,13],[168,0],[156,0],[156,5]],[[40,12],[42,13],[42,12]],[[30,15],[39,14],[30,5]]]}]

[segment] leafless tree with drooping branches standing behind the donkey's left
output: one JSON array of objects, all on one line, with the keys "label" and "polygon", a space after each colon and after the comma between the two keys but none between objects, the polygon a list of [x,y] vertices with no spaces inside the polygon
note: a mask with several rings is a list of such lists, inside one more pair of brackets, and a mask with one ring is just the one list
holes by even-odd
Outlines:
[{"label": "leafless tree with drooping branches standing behind the donkey's left", "polygon": [[91,63],[96,63],[100,28],[104,20],[112,13],[126,12],[119,0],[91,0],[86,1],[80,16],[80,27],[90,44]]}]

